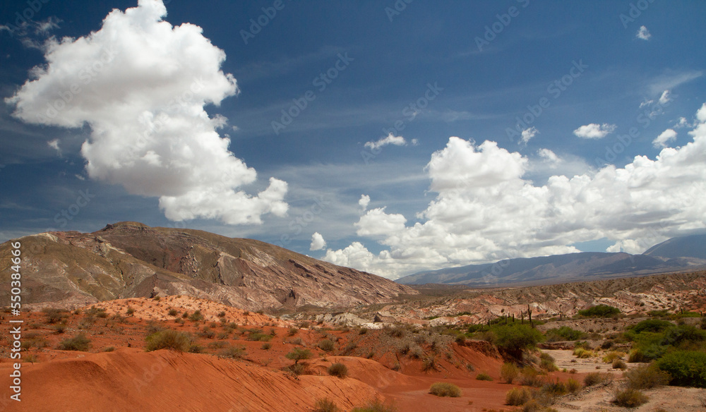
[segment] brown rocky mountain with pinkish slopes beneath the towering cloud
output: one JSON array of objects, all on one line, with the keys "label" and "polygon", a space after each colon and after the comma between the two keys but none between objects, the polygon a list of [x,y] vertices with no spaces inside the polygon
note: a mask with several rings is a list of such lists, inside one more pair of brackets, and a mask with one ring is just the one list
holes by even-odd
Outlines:
[{"label": "brown rocky mountain with pinkish slopes beneath the towering cloud", "polygon": [[[15,241],[22,244],[23,304],[75,307],[183,294],[249,310],[336,308],[417,293],[269,243],[198,230],[120,222],[90,234],[48,232]],[[11,242],[3,243],[4,296],[9,296],[10,257]]]}]

